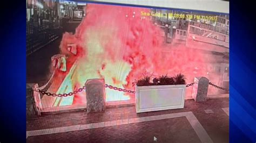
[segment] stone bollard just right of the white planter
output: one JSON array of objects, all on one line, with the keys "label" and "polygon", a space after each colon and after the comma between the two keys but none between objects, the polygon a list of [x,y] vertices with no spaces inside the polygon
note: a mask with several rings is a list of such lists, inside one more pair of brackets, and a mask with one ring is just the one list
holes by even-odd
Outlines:
[{"label": "stone bollard just right of the white planter", "polygon": [[192,98],[196,102],[205,102],[207,100],[209,80],[206,77],[194,77]]}]

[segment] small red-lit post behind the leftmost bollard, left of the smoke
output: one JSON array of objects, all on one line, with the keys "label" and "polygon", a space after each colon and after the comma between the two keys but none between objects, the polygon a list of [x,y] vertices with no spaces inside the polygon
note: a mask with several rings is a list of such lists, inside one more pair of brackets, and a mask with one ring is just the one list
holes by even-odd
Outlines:
[{"label": "small red-lit post behind the leftmost bollard, left of the smoke", "polygon": [[53,55],[51,57],[51,63],[53,67],[61,71],[66,71],[66,56],[62,54]]}]

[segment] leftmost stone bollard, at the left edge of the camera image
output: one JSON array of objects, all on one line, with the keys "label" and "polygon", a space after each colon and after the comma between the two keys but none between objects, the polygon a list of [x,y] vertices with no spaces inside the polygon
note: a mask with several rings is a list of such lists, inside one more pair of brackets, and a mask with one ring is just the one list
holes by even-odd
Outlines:
[{"label": "leftmost stone bollard, at the left edge of the camera image", "polygon": [[26,118],[41,116],[42,103],[37,83],[26,84]]}]

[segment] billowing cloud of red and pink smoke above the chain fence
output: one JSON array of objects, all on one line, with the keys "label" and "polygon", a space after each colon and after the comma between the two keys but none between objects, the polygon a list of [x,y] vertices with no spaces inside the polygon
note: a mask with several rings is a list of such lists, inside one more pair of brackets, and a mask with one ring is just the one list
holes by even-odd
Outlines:
[{"label": "billowing cloud of red and pink smoke above the chain fence", "polygon": [[[192,82],[195,76],[208,76],[204,61],[211,59],[210,57],[205,57],[204,54],[185,45],[164,44],[164,38],[160,36],[163,30],[154,25],[149,18],[142,19],[140,15],[142,11],[150,10],[129,6],[87,4],[86,17],[76,28],[76,33],[63,34],[60,44],[62,53],[72,58],[73,55],[67,50],[67,45],[76,44],[79,49],[78,60],[83,60],[79,64],[86,65],[89,58],[109,60],[109,63],[105,61],[100,63],[96,71],[91,71],[103,78],[107,75],[102,75],[101,71],[105,70],[106,65],[115,61],[128,63],[131,65],[131,70],[126,76],[126,81],[123,82],[124,88],[127,89],[134,89],[132,82],[138,80],[145,72],[156,76],[163,74],[174,76],[182,73],[186,76],[187,83]],[[89,48],[95,48],[90,47],[90,44],[95,42],[92,39],[97,39],[97,44],[94,45],[104,52],[89,57],[89,54],[93,54],[89,52]],[[112,80],[114,83],[120,81],[117,77],[112,77]]]}]

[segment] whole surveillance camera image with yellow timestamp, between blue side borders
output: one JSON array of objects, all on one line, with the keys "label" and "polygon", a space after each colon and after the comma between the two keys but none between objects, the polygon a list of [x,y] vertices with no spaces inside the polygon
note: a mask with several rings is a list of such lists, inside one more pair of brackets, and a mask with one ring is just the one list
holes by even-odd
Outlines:
[{"label": "whole surveillance camera image with yellow timestamp, between blue side borders", "polygon": [[26,142],[229,142],[229,22],[26,0]]}]

